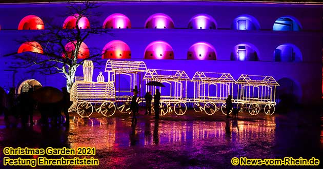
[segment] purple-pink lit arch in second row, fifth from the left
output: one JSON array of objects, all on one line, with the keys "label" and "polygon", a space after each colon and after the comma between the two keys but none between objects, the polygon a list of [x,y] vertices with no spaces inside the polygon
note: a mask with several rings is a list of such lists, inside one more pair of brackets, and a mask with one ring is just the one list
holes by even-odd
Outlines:
[{"label": "purple-pink lit arch in second row, fifth from the left", "polygon": [[192,45],[187,52],[187,59],[190,60],[216,60],[216,52],[212,45],[206,42],[199,42]]}]

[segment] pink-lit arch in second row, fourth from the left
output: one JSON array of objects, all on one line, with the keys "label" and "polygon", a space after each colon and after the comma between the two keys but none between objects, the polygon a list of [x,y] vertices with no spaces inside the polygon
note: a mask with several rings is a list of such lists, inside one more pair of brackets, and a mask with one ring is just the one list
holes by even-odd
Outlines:
[{"label": "pink-lit arch in second row, fourth from the left", "polygon": [[166,41],[153,41],[145,49],[145,59],[174,59],[173,48]]}]

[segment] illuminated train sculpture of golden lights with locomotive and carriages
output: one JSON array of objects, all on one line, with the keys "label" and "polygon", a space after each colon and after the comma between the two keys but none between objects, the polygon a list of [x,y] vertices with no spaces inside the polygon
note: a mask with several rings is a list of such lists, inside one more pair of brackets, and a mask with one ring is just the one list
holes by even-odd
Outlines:
[{"label": "illuminated train sculpture of golden lights with locomotive and carriages", "polygon": [[[159,87],[161,116],[173,111],[177,115],[184,115],[188,102],[194,103],[195,112],[204,111],[212,115],[221,110],[226,114],[225,99],[229,95],[234,96],[233,88],[237,88],[237,97],[232,101],[241,108],[240,112],[248,109],[251,115],[257,115],[264,109],[266,115],[272,115],[276,105],[275,91],[279,86],[271,76],[241,75],[235,81],[229,73],[196,72],[191,80],[185,71],[147,69],[143,61],[108,60],[105,69],[108,82],[105,82],[102,72],[97,82],[92,81],[92,61],[85,61],[83,72],[84,77],[75,77],[70,91],[73,104],[69,110],[76,111],[81,117],[89,117],[94,110],[107,117],[112,116],[116,109],[121,113],[130,113],[134,90],[139,94],[139,104],[144,102],[143,94],[155,93],[157,87],[144,87],[144,80],[146,84],[158,81],[166,85],[166,88]],[[188,81],[194,82],[193,98],[187,97]]]}]

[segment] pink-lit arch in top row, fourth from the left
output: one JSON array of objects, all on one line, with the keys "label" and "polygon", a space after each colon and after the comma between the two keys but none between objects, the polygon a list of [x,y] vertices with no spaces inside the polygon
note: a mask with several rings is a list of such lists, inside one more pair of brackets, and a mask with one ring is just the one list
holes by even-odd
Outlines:
[{"label": "pink-lit arch in top row, fourth from the left", "polygon": [[151,15],[145,23],[145,28],[169,29],[174,28],[174,22],[171,17],[164,13]]}]

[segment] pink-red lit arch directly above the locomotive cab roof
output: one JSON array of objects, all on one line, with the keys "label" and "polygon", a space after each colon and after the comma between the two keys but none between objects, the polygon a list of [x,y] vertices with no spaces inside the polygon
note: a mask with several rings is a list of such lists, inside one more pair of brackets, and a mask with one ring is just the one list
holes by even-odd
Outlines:
[{"label": "pink-red lit arch directly above the locomotive cab roof", "polygon": [[112,40],[103,48],[103,59],[131,59],[129,46],[121,40]]}]

